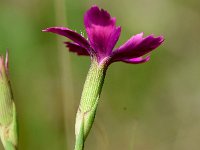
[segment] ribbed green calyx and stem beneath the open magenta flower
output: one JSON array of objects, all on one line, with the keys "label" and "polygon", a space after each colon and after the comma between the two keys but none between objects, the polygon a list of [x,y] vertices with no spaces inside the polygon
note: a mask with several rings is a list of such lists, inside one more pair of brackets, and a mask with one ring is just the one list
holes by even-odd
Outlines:
[{"label": "ribbed green calyx and stem beneath the open magenta flower", "polygon": [[93,125],[106,68],[106,65],[99,65],[96,60],[92,60],[76,115],[75,150],[83,150],[84,142]]}]

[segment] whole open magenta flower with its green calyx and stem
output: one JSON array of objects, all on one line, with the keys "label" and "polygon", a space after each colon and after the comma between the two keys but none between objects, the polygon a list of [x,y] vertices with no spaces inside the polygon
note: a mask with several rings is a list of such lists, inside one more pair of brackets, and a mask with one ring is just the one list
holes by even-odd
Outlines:
[{"label": "whole open magenta flower with its green calyx and stem", "polygon": [[85,13],[84,25],[88,40],[69,28],[51,27],[43,30],[67,37],[71,40],[71,42],[65,42],[69,51],[91,57],[91,67],[76,116],[75,150],[83,149],[85,139],[92,127],[107,67],[117,61],[132,64],[144,63],[150,59],[150,55],[144,56],[164,41],[162,36],[143,37],[143,33],[140,33],[132,36],[120,47],[114,48],[119,39],[121,27],[116,26],[115,18],[97,6],[91,7]]}]

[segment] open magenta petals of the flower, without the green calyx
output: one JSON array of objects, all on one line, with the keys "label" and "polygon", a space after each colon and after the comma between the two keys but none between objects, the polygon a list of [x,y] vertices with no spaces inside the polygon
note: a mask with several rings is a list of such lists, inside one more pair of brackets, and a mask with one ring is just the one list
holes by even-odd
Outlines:
[{"label": "open magenta petals of the flower, without the green calyx", "polygon": [[65,44],[71,52],[95,58],[99,64],[105,61],[108,64],[116,61],[132,64],[146,62],[150,56],[143,56],[156,49],[164,41],[163,36],[143,37],[143,33],[140,33],[132,36],[119,48],[114,48],[119,39],[121,27],[116,26],[115,18],[97,6],[92,6],[85,13],[84,24],[89,40],[64,27],[51,27],[43,31],[69,38],[72,42],[65,42]]}]

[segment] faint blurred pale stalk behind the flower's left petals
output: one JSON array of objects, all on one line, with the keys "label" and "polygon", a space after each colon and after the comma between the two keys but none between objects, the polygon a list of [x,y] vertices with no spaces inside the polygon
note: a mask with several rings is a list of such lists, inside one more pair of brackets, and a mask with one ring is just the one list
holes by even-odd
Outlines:
[{"label": "faint blurred pale stalk behind the flower's left petals", "polygon": [[[67,0],[54,0],[55,4],[55,24],[67,26]],[[69,143],[73,143],[73,139],[68,138],[67,135],[73,134],[73,131],[69,130],[72,124],[70,124],[71,115],[73,112],[74,104],[74,86],[73,75],[71,69],[70,55],[66,47],[61,45],[62,38],[57,38],[58,57],[60,61],[60,84],[61,95],[63,103],[63,116],[65,126],[65,146],[69,149]]]}]

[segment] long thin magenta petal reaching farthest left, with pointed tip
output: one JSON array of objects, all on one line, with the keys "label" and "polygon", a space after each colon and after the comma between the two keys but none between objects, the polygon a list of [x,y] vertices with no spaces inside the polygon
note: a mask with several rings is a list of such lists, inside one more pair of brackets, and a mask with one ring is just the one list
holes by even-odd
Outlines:
[{"label": "long thin magenta petal reaching farthest left, with pointed tip", "polygon": [[51,27],[51,28],[47,28],[42,31],[56,33],[56,34],[59,34],[59,35],[62,35],[62,36],[65,36],[65,37],[71,39],[72,41],[81,45],[82,47],[85,47],[85,48],[90,47],[88,41],[84,37],[82,37],[80,34],[76,33],[75,31],[72,31],[68,28]]}]

